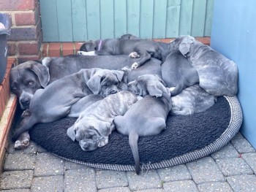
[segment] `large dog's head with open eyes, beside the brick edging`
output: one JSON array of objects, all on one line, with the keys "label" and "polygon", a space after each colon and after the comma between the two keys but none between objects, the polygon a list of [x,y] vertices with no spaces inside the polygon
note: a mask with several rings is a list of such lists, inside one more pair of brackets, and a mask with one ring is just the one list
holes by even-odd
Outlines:
[{"label": "large dog's head with open eyes, beside the brick edging", "polygon": [[31,98],[39,88],[45,88],[50,80],[49,69],[36,61],[26,61],[10,71],[12,93],[19,98],[21,109],[29,107]]}]

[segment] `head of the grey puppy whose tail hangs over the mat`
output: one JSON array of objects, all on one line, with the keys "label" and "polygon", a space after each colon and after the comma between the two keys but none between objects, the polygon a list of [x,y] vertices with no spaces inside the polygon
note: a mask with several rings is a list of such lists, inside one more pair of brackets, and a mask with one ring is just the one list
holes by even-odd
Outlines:
[{"label": "head of the grey puppy whose tail hangs over the mat", "polygon": [[156,74],[143,74],[137,80],[128,83],[128,90],[138,96],[161,97],[164,93],[170,96],[170,90],[165,86],[165,82]]}]

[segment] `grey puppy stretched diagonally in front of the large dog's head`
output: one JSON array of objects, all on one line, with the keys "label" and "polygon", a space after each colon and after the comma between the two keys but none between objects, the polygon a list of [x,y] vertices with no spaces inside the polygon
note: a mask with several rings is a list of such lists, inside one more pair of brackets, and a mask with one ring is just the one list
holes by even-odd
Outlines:
[{"label": "grey puppy stretched diagonally in front of the large dog's head", "polygon": [[[72,105],[85,96],[90,94],[108,96],[116,93],[118,82],[123,75],[124,72],[108,69],[81,69],[75,74],[54,81],[45,89],[37,90],[12,140],[17,140],[20,134],[29,131],[36,123],[48,123],[64,118],[70,111],[78,114],[78,109],[71,109]],[[26,142],[18,140],[16,145],[18,148],[28,145],[27,139]]]}]

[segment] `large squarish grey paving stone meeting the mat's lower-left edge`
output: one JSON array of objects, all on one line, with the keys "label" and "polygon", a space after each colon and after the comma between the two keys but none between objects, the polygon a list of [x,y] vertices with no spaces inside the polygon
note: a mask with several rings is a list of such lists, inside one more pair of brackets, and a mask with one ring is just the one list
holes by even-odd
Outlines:
[{"label": "large squarish grey paving stone meeting the mat's lower-left edge", "polygon": [[48,176],[64,174],[64,160],[50,153],[37,154],[34,176]]}]

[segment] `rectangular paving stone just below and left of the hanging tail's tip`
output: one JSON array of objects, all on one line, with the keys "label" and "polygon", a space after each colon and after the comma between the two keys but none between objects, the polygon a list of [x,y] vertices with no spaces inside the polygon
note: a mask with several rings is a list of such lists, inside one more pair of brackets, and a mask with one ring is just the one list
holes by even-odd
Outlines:
[{"label": "rectangular paving stone just below and left of the hanging tail's tip", "polygon": [[97,171],[96,183],[98,189],[128,186],[126,172],[115,172],[109,170]]}]

